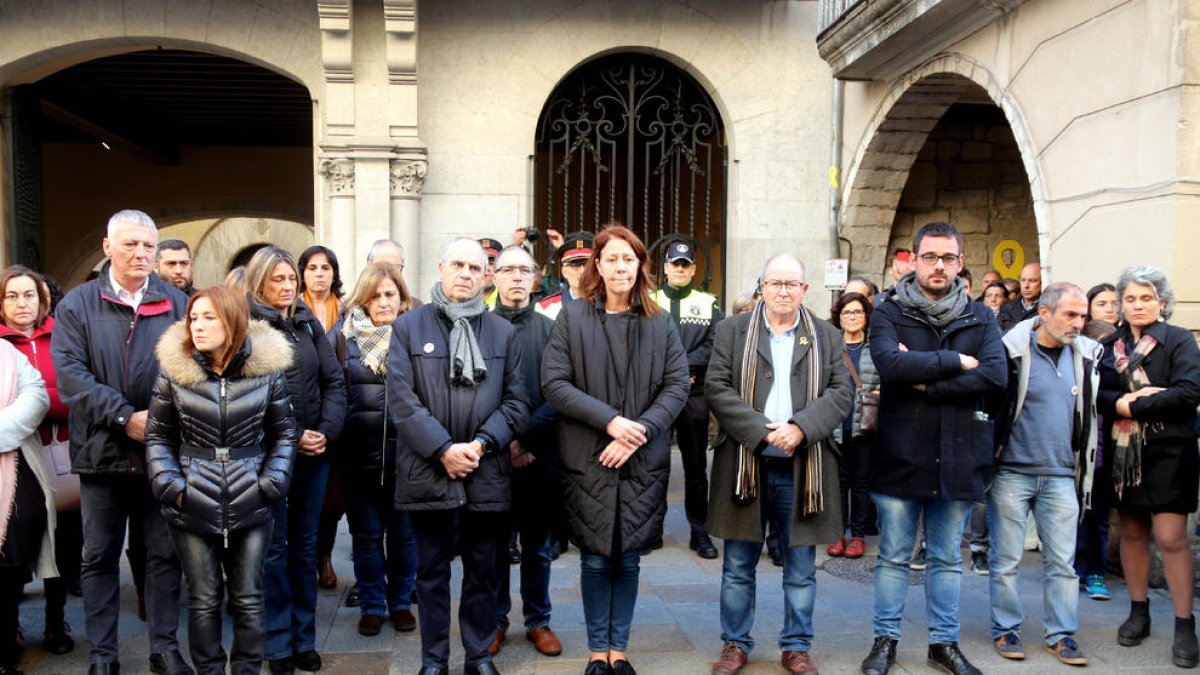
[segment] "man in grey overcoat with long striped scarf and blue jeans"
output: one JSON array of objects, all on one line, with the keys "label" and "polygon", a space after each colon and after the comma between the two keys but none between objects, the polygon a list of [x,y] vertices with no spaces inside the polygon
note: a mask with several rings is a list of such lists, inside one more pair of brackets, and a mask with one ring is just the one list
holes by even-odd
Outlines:
[{"label": "man in grey overcoat with long striped scarf and blue jeans", "polygon": [[725,647],[713,674],[739,671],[754,647],[755,566],[773,519],[784,550],[781,663],[790,673],[815,675],[809,658],[815,544],[841,531],[829,438],[850,412],[854,386],[841,331],[802,306],[809,288],[804,264],[788,255],[772,257],[760,287],[762,301],[752,311],[718,324],[704,387],[722,431],[708,506],[708,531],[725,539]]}]

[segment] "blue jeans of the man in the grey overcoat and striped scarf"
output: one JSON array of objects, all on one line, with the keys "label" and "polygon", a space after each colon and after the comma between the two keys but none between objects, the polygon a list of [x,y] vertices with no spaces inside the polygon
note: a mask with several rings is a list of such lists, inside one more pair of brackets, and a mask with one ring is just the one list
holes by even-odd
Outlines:
[{"label": "blue jeans of the man in the grey overcoat and striped scarf", "polygon": [[[775,524],[784,554],[784,627],[779,632],[782,651],[809,651],[812,646],[812,605],[817,597],[814,560],[816,546],[788,545],[792,502],[796,497],[791,462],[763,471],[760,497],[762,522]],[[755,567],[762,556],[762,540],[725,540],[721,568],[721,640],[737,643],[746,653],[754,649],[750,628],[755,611]]]}]

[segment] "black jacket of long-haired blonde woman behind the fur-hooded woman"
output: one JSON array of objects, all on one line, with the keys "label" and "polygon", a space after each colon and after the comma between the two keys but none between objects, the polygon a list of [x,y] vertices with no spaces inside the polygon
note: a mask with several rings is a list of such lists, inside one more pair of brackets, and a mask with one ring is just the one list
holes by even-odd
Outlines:
[{"label": "black jacket of long-haired blonde woman behind the fur-hooded woman", "polygon": [[346,422],[346,378],[325,329],[304,303],[296,304],[290,318],[283,318],[276,309],[251,297],[250,316],[265,321],[292,342],[294,360],[287,376],[296,426],[301,435],[306,429],[325,435],[325,453],[317,458],[298,454],[300,461],[328,460]]}]

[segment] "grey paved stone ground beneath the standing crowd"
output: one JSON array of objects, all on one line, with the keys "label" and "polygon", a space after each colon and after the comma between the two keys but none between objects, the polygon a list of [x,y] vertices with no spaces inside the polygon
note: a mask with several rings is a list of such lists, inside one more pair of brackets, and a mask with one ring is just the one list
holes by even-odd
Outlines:
[{"label": "grey paved stone ground beneath the standing crowd", "polygon": [[[720,623],[718,617],[718,593],[721,561],[700,560],[688,550],[688,526],[683,515],[683,480],[676,456],[670,512],[666,524],[666,542],[662,550],[642,561],[642,583],[637,598],[637,611],[630,657],[644,675],[696,673],[709,670],[710,662],[720,650]],[[814,658],[821,671],[829,674],[858,673],[858,664],[871,643],[871,586],[870,566],[872,548],[860,561],[829,560],[823,550],[817,556],[817,605],[816,641]],[[349,533],[346,522],[335,550],[338,587],[322,591],[318,616],[318,651],[325,667],[322,673],[348,675],[413,674],[420,669],[420,638],[415,633],[401,634],[390,631],[374,638],[364,638],[356,632],[358,609],[342,605],[350,577]],[[1010,662],[997,656],[988,635],[988,579],[967,571],[962,579],[961,644],[966,655],[985,673],[1068,673],[1074,669],[1062,665],[1051,655],[1037,651],[1040,643],[1042,593],[1037,583],[1040,557],[1026,554],[1021,563],[1021,599],[1025,607],[1026,643],[1030,650],[1025,662]],[[920,574],[913,574],[908,602],[905,610],[905,639],[900,643],[900,656],[893,673],[934,673],[925,665],[925,613],[924,586]],[[758,566],[757,622],[755,635],[758,646],[750,656],[745,673],[780,673],[779,651],[775,635],[782,623],[782,597],[780,593],[780,569],[763,557]],[[122,619],[121,664],[127,675],[149,673],[146,664],[148,643],[144,625],[138,621],[136,593],[128,569],[121,577]],[[456,574],[454,587],[458,585]],[[578,555],[576,549],[554,562],[551,578],[551,596],[554,605],[553,628],[563,640],[563,655],[547,658],[538,655],[533,645],[521,634],[520,601],[512,613],[514,627],[509,641],[496,659],[497,667],[506,674],[529,673],[582,673],[587,659],[587,640],[583,628],[583,608],[578,590]],[[514,589],[517,587],[516,577]],[[1110,602],[1080,598],[1080,631],[1078,639],[1087,652],[1091,673],[1170,673],[1175,671],[1170,661],[1170,641],[1174,622],[1170,597],[1165,591],[1151,591],[1153,632],[1141,646],[1127,649],[1116,643],[1116,627],[1128,611],[1128,593],[1120,579],[1110,579]],[[22,604],[20,620],[25,628],[26,650],[22,668],[36,675],[76,674],[88,671],[88,641],[84,635],[83,603],[70,598],[67,621],[74,628],[78,640],[76,650],[66,656],[47,655],[41,649],[42,590],[35,583],[28,587],[28,597]],[[419,609],[418,609],[419,611]],[[186,644],[186,631],[180,631],[180,640]],[[230,629],[226,621],[226,644]],[[1032,647],[1032,649],[1031,649]],[[461,673],[462,651],[457,641],[457,629],[451,639],[451,671]],[[266,669],[264,668],[264,673]]]}]

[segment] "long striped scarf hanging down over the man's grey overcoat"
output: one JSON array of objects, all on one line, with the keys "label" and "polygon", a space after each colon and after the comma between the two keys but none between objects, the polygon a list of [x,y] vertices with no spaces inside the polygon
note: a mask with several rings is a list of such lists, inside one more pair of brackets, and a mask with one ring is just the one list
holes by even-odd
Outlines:
[{"label": "long striped scarf hanging down over the man's grey overcoat", "polygon": [[[758,353],[758,341],[762,339],[762,331],[766,328],[766,322],[763,319],[763,303],[758,300],[755,304],[754,310],[750,311],[750,325],[746,330],[746,341],[742,351],[742,380],[740,380],[740,393],[742,399],[754,405],[754,389],[755,389],[755,375],[757,372],[756,359]],[[808,357],[808,387],[804,390],[804,405],[808,407],[809,404],[815,401],[817,396],[821,395],[821,362],[822,362],[822,348],[821,339],[817,334],[816,325],[812,318],[812,312],[805,307],[800,307],[800,322],[804,324],[804,330],[808,335],[812,336],[812,347]],[[733,501],[739,504],[745,504],[758,498],[758,462],[756,461],[754,454],[755,448],[744,444],[738,444],[738,458],[736,462],[737,476],[733,482]],[[821,490],[821,484],[824,478],[824,466],[822,462],[822,454],[824,450],[824,442],[814,443],[808,448],[808,456],[804,462],[804,498],[799,504],[799,515],[805,518],[809,515],[816,515],[824,510],[824,492]]]}]

